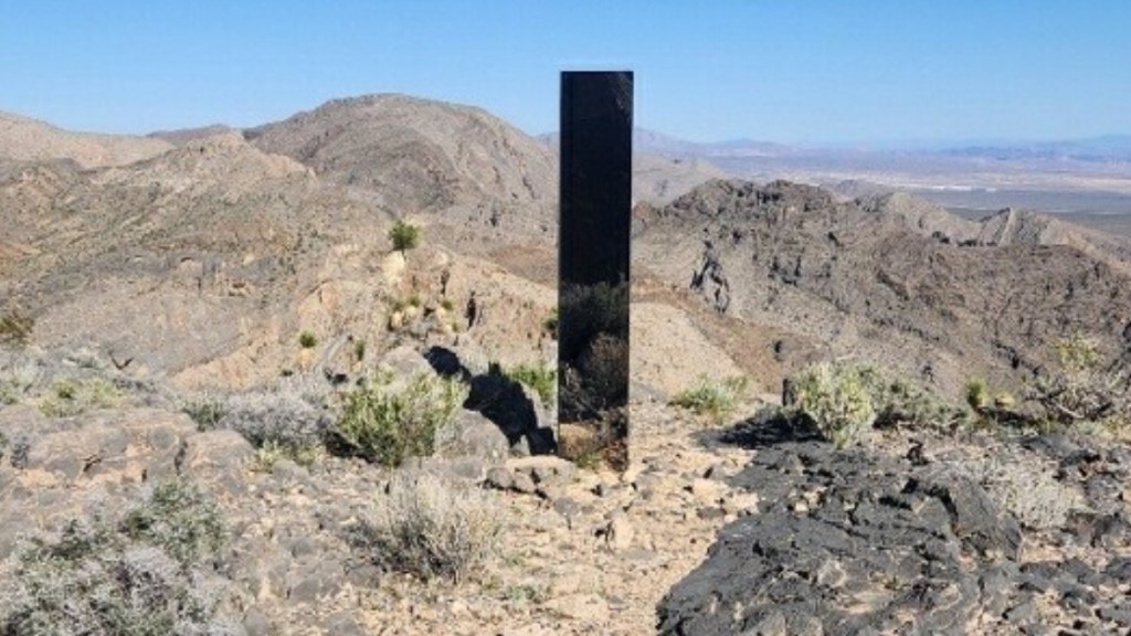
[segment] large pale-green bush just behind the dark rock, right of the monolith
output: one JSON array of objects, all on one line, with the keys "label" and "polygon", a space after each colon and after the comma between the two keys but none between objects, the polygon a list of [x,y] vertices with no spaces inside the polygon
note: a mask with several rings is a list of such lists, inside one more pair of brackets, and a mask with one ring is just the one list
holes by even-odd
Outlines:
[{"label": "large pale-green bush just behind the dark rock, right of the monolith", "polygon": [[910,424],[951,431],[966,412],[867,364],[822,362],[791,378],[786,406],[838,448],[872,428]]}]

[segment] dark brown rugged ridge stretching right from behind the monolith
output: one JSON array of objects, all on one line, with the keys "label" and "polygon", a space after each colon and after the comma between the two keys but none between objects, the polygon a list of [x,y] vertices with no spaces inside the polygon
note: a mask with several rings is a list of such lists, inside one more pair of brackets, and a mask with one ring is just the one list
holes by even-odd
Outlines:
[{"label": "dark brown rugged ridge stretching right from behind the monolith", "polygon": [[1117,255],[1081,249],[1076,231],[1000,224],[900,196],[845,203],[788,182],[713,181],[638,209],[634,249],[718,312],[956,397],[973,375],[1019,387],[1060,337],[1096,336],[1112,354],[1131,346],[1131,280]]}]

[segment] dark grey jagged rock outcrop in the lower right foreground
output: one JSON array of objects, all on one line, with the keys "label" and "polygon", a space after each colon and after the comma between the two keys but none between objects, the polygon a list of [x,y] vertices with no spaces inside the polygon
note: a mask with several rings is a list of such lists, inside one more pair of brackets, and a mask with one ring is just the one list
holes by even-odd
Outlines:
[{"label": "dark grey jagged rock outcrop in the lower right foreground", "polygon": [[[759,514],[725,526],[670,591],[659,633],[1028,633],[1047,622],[1036,595],[1061,616],[1098,617],[1093,627],[1119,625],[1122,605],[1100,591],[1120,588],[1122,560],[1019,564],[1018,522],[958,467],[762,444],[731,480],[759,495]],[[1113,532],[1125,548],[1129,533]]]}]

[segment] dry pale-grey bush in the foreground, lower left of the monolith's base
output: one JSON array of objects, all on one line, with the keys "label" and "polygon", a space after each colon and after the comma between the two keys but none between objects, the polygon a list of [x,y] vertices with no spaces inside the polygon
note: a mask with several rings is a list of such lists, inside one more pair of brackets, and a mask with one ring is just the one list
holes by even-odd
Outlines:
[{"label": "dry pale-grey bush in the foreground, lower left of the monolith's base", "polygon": [[501,523],[490,493],[418,472],[398,473],[357,530],[379,566],[458,582],[495,552]]}]

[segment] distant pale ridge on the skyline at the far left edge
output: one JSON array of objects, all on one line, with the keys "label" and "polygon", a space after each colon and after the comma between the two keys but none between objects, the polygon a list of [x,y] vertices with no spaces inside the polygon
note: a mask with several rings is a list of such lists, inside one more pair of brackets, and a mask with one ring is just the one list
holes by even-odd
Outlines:
[{"label": "distant pale ridge on the skyline at the far left edge", "polygon": [[49,123],[0,112],[0,160],[71,160],[81,167],[124,165],[172,146],[161,139],[70,132]]}]

